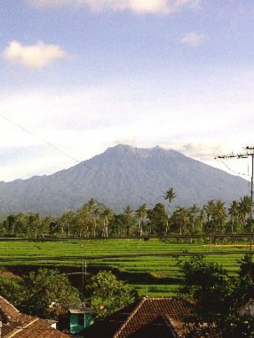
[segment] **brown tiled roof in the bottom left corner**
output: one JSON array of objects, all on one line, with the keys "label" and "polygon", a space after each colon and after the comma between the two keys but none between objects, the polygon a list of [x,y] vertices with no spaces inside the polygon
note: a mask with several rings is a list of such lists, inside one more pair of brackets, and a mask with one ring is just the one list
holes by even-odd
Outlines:
[{"label": "brown tiled roof in the bottom left corner", "polygon": [[0,296],[0,337],[65,338],[70,335],[54,328],[54,321],[27,316]]}]

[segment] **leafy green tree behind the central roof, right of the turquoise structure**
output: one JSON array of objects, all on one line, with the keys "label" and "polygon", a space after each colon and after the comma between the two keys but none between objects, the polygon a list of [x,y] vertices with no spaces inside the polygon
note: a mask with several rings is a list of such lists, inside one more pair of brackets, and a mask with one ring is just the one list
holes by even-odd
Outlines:
[{"label": "leafy green tree behind the central roof, right of the turquoise structure", "polygon": [[132,303],[136,292],[122,281],[117,280],[112,272],[100,271],[90,280],[92,304],[98,317],[104,317]]}]

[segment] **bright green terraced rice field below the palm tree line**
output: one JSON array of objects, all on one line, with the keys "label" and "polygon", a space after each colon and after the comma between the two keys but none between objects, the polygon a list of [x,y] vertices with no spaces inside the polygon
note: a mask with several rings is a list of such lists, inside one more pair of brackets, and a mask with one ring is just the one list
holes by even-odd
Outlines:
[{"label": "bright green terraced rice field below the palm tree line", "polygon": [[172,296],[181,284],[176,256],[204,254],[231,274],[237,273],[237,260],[249,253],[250,245],[169,243],[160,239],[0,241],[0,263],[9,266],[75,267],[80,271],[87,263],[90,275],[99,269],[110,269],[135,287],[139,295]]}]

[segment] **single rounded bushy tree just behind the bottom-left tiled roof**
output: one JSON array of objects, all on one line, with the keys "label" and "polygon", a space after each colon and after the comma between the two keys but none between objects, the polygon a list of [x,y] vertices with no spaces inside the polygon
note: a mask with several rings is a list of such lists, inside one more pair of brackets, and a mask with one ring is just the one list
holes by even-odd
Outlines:
[{"label": "single rounded bushy tree just behind the bottom-left tiled roof", "polygon": [[80,304],[79,292],[67,275],[57,270],[41,268],[24,278],[24,305],[35,315],[55,317],[60,310]]}]

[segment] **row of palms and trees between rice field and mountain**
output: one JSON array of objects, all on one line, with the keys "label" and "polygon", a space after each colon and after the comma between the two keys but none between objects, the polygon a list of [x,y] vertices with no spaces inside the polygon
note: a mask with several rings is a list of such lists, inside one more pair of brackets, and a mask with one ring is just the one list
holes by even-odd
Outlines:
[{"label": "row of palms and trees between rice field and mountain", "polygon": [[[229,208],[220,199],[210,199],[200,207],[176,205],[173,188],[164,193],[167,204],[157,203],[149,209],[145,204],[136,210],[130,205],[116,214],[95,199],[90,199],[77,211],[59,217],[38,213],[8,215],[0,223],[1,236],[24,238],[50,237],[110,237],[150,235],[238,234],[252,229],[251,198],[233,200]],[[174,203],[174,210],[172,205]]]}]

